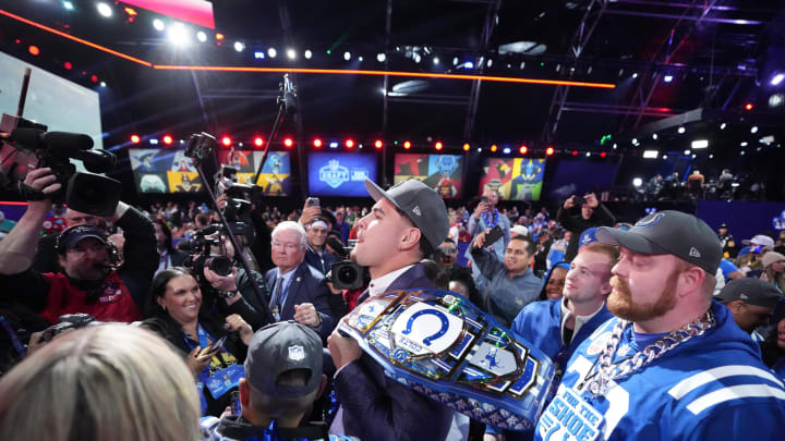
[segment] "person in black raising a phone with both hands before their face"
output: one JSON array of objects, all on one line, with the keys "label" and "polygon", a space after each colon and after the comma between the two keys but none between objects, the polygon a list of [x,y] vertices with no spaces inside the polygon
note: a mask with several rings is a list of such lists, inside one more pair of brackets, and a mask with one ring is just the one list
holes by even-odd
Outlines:
[{"label": "person in black raising a phone with both hands before their face", "polygon": [[[568,210],[573,207],[580,210],[579,215],[569,215]],[[597,201],[594,193],[589,193],[583,197],[576,195],[570,196],[565,200],[564,205],[559,207],[556,220],[567,231],[570,231],[575,238],[567,245],[567,250],[561,259],[564,261],[571,261],[578,254],[578,237],[581,236],[583,231],[593,226],[613,226],[616,223],[616,218],[614,218],[604,205]]]}]

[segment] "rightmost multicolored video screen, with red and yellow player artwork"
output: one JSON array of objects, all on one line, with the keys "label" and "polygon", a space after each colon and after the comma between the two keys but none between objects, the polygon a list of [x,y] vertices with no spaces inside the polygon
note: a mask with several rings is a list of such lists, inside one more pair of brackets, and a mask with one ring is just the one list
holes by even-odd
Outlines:
[{"label": "rightmost multicolored video screen, with red and yellow player artwork", "polygon": [[499,199],[540,200],[545,159],[485,158],[480,177],[480,195],[486,188],[498,191]]}]

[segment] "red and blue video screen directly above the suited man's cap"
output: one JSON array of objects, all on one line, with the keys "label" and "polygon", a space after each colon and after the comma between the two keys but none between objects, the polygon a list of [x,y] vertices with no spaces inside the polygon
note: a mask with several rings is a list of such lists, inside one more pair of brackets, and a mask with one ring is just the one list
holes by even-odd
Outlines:
[{"label": "red and blue video screen directly above the suited man's cap", "polygon": [[459,155],[397,154],[392,182],[420,180],[443,198],[460,198],[463,186],[463,157]]}]

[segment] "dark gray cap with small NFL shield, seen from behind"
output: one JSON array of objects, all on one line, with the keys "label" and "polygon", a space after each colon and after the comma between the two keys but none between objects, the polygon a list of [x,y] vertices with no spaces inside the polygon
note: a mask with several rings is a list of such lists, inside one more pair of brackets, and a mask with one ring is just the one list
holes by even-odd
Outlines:
[{"label": "dark gray cap with small NFL shield, seen from behind", "polygon": [[[304,385],[278,384],[281,373],[310,371]],[[295,321],[267,324],[254,333],[245,358],[245,379],[266,395],[297,397],[322,382],[322,338]]]}]

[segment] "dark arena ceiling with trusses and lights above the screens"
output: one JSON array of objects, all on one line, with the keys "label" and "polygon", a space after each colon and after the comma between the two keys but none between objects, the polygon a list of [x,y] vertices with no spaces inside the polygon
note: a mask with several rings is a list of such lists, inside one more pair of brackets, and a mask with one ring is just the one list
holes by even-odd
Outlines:
[{"label": "dark arena ceiling with trusses and lights above the screens", "polygon": [[[635,133],[700,107],[742,112],[752,102],[753,112],[783,114],[782,106],[769,106],[770,96],[782,93],[769,77],[785,72],[782,1],[215,0],[215,30],[189,25],[194,33],[208,30],[207,42],[180,49],[152,26],[156,17],[171,22],[160,14],[134,8],[131,21],[125,4],[114,2],[113,16],[104,19],[95,1],[73,0],[72,11],[62,3],[0,1],[4,11],[154,65],[386,70],[616,85],[418,78],[420,90],[392,94],[396,85],[414,78],[297,73],[300,111],[280,134],[302,140],[352,136],[425,144],[431,138],[448,149],[470,142],[585,150],[605,148],[599,145],[605,134]],[[216,32],[226,36],[220,46]],[[234,41],[245,50],[234,51]],[[503,45],[516,41],[531,44],[503,53]],[[3,51],[83,85],[96,87],[77,71],[105,79],[106,146],[128,144],[132,133],[182,138],[207,131],[247,140],[266,136],[277,112],[278,73],[154,69],[7,15],[0,16],[0,44]],[[39,46],[41,54],[27,53],[28,44]],[[254,58],[269,47],[277,48],[277,58]],[[298,59],[288,60],[286,48],[294,48]],[[313,51],[311,60],[303,58],[305,49]],[[350,61],[343,59],[347,51]],[[386,54],[385,62],[377,53]],[[64,70],[64,61],[74,70]],[[467,61],[473,69],[460,66]]]}]

